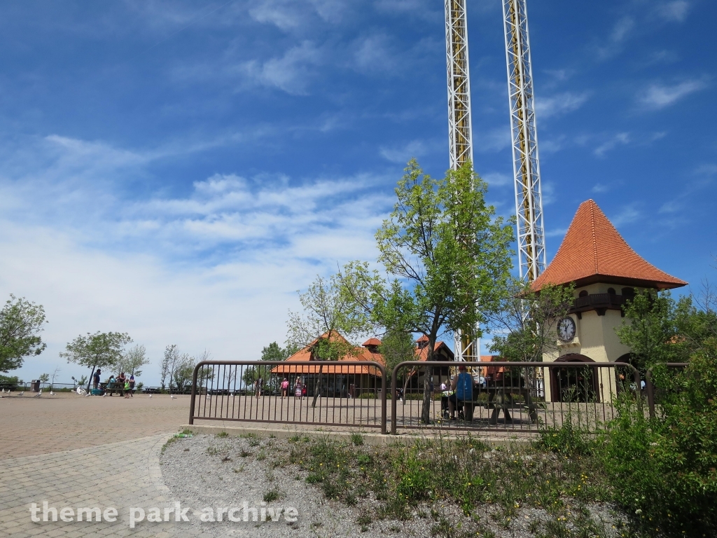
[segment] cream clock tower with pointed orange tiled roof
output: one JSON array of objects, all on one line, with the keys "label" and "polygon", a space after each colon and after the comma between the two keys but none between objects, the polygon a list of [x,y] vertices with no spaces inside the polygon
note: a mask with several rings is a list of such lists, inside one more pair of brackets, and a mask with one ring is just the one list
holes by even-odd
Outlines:
[{"label": "cream clock tower with pointed orange tiled roof", "polygon": [[[580,204],[555,258],[533,282],[533,289],[539,291],[548,283],[574,283],[575,300],[569,315],[556,324],[557,348],[543,353],[543,361],[587,363],[629,362],[630,349],[615,333],[625,316],[625,301],[636,293],[687,284],[635,253],[593,200]],[[609,372],[599,369],[595,375]],[[594,379],[595,392],[604,401],[609,394],[599,394],[601,387],[607,390],[614,383],[599,381]],[[549,387],[551,382],[554,387]],[[561,399],[556,384],[556,379],[546,379],[546,399]]]}]

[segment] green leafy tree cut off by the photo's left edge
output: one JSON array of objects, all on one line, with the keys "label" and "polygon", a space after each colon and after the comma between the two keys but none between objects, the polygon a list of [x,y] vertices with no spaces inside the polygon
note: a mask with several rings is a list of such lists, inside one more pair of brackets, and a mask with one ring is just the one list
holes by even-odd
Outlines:
[{"label": "green leafy tree cut off by the photo's left edge", "polygon": [[24,357],[34,357],[44,351],[46,344],[39,333],[45,320],[44,308],[10,294],[0,310],[0,372],[22,366]]}]

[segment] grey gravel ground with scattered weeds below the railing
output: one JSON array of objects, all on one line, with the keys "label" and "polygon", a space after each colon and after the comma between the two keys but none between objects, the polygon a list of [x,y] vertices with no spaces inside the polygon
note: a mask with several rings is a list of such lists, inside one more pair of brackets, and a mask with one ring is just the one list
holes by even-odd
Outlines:
[{"label": "grey gravel ground with scattered weeds below the railing", "polygon": [[[492,514],[497,507],[485,506],[478,511],[483,528],[462,514],[457,506],[417,506],[407,522],[379,519],[380,501],[369,495],[359,499],[356,506],[328,501],[317,486],[305,482],[308,473],[286,463],[290,451],[288,440],[274,438],[217,438],[214,435],[195,435],[178,438],[166,445],[160,458],[163,481],[171,496],[190,507],[189,522],[183,531],[189,535],[207,537],[372,537],[397,535],[402,537],[462,537],[476,536],[480,530],[496,537],[532,538],[530,531],[536,522],[544,522],[543,510],[526,508],[518,511],[512,522],[496,522]],[[265,502],[264,499],[270,500]],[[209,507],[236,507],[232,515],[244,517],[244,503],[257,510],[289,507],[298,512],[295,521],[291,514],[276,516],[278,521],[252,522],[247,511],[244,522],[201,522],[202,510]],[[602,522],[602,536],[617,535],[612,527],[609,506],[590,506],[592,517]],[[434,516],[432,516],[433,514]],[[267,519],[270,519],[267,511]],[[445,518],[453,529],[440,526]],[[497,518],[495,518],[497,519]],[[357,522],[359,520],[359,522]],[[486,533],[488,531],[488,533]],[[184,534],[182,532],[182,534]]]}]

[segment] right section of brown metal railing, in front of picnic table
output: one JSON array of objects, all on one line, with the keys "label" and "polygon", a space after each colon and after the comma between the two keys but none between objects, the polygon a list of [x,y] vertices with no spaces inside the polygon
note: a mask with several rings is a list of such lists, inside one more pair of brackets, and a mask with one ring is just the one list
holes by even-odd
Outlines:
[{"label": "right section of brown metal railing, in front of picnic table", "polygon": [[[450,400],[441,394],[440,384],[461,364],[479,382],[473,384],[470,400],[457,402],[457,420],[452,421]],[[425,423],[427,372],[434,390]],[[642,405],[640,373],[622,362],[402,362],[391,374],[391,433],[398,428],[535,433],[538,428],[559,428],[567,422],[598,430],[616,415],[612,402],[623,391],[634,394]]]}]

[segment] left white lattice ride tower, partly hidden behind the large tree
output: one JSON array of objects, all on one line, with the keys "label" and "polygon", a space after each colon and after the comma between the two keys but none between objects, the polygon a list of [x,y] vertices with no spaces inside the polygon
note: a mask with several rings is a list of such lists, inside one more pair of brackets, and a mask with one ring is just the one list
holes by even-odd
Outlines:
[{"label": "left white lattice ride tower, partly hidden behind the large tree", "polygon": [[[448,79],[448,141],[450,168],[473,163],[473,131],[470,123],[470,74],[468,70],[468,26],[466,0],[445,0],[446,60]],[[457,361],[480,360],[477,328],[456,331]]]}]

